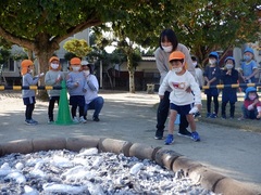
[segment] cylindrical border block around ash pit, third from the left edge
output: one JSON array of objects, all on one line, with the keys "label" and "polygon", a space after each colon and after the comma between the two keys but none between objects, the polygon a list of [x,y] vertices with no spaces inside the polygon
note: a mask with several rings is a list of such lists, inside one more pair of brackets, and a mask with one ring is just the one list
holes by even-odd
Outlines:
[{"label": "cylindrical border block around ash pit, third from the left edge", "polygon": [[79,152],[82,148],[98,148],[99,142],[100,138],[96,136],[69,138],[66,140],[66,150]]}]

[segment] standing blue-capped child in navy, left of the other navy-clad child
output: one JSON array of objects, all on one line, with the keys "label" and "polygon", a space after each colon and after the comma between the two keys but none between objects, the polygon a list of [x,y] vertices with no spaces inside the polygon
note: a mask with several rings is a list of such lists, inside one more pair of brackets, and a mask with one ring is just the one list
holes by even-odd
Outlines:
[{"label": "standing blue-capped child in navy, left of the other navy-clad child", "polygon": [[[219,54],[211,52],[209,54],[209,65],[206,67],[203,77],[206,86],[215,86],[220,83],[220,67],[219,67]],[[219,89],[210,88],[204,90],[207,94],[207,118],[216,118],[219,113]],[[214,112],[211,114],[211,102],[214,101]]]}]

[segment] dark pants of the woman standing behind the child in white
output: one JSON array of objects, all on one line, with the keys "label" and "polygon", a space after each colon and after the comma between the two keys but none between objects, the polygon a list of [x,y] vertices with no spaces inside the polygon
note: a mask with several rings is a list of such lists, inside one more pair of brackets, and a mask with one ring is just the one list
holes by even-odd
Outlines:
[{"label": "dark pants of the woman standing behind the child in white", "polygon": [[[163,135],[165,121],[169,116],[170,110],[170,92],[165,91],[164,98],[160,101],[158,110],[157,110],[157,135]],[[188,127],[188,121],[186,115],[181,116],[179,132],[183,132]]]}]

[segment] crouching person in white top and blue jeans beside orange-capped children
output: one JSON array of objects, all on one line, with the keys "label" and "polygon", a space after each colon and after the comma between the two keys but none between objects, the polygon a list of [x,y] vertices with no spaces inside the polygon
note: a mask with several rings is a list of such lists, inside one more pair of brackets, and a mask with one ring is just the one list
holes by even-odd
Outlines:
[{"label": "crouching person in white top and blue jeans beside orange-capped children", "polygon": [[91,65],[87,61],[82,61],[82,69],[86,78],[85,93],[85,112],[84,117],[87,119],[88,109],[95,109],[92,120],[100,121],[99,114],[103,107],[104,100],[102,96],[98,96],[99,83],[95,75],[92,75]]}]

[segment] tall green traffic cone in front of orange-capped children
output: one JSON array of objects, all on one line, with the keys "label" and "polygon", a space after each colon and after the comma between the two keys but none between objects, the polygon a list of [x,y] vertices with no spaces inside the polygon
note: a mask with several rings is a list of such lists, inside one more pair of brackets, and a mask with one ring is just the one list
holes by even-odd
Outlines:
[{"label": "tall green traffic cone in front of orange-capped children", "polygon": [[72,125],[73,120],[71,118],[70,107],[69,107],[69,100],[67,100],[67,90],[65,80],[62,81],[62,89],[60,93],[59,100],[59,108],[58,108],[58,117],[57,117],[57,125]]}]

